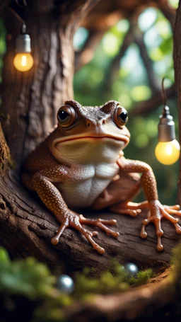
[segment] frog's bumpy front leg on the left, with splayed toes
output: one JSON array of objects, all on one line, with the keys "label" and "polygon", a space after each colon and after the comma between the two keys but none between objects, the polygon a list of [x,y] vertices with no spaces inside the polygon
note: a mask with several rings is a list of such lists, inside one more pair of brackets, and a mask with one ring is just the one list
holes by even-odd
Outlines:
[{"label": "frog's bumpy front leg on the left, with splayed toes", "polygon": [[70,171],[66,166],[54,166],[52,168],[45,168],[42,171],[38,171],[33,175],[33,188],[39,195],[42,202],[46,207],[54,213],[57,220],[61,223],[57,234],[52,238],[52,244],[57,245],[59,238],[63,234],[66,227],[71,226],[78,230],[83,236],[86,237],[93,248],[98,253],[103,254],[104,248],[100,247],[98,243],[93,241],[93,236],[98,235],[97,231],[88,231],[83,228],[81,224],[91,224],[97,226],[108,235],[112,235],[117,238],[119,233],[107,228],[105,224],[115,225],[116,220],[103,220],[103,219],[86,219],[82,215],[78,215],[76,212],[69,209],[64,202],[61,192],[55,187],[53,183],[63,182],[70,179]]}]

